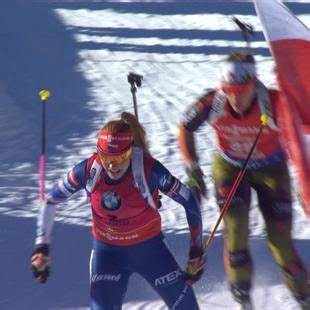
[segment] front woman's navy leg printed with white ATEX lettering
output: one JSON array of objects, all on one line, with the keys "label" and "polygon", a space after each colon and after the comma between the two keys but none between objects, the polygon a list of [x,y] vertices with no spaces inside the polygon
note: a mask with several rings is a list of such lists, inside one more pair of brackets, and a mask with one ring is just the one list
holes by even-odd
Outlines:
[{"label": "front woman's navy leg printed with white ATEX lettering", "polygon": [[193,288],[160,235],[143,242],[131,252],[132,268],[143,276],[169,309],[199,309]]}]

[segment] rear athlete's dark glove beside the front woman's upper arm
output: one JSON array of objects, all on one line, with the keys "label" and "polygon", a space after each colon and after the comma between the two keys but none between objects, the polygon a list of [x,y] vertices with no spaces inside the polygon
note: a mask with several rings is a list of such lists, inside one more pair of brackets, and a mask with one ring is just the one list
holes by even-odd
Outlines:
[{"label": "rear athlete's dark glove beside the front woman's upper arm", "polygon": [[198,200],[200,200],[201,196],[206,197],[207,186],[203,180],[204,174],[199,165],[193,164],[187,167],[186,174],[188,176],[187,184],[192,189]]}]

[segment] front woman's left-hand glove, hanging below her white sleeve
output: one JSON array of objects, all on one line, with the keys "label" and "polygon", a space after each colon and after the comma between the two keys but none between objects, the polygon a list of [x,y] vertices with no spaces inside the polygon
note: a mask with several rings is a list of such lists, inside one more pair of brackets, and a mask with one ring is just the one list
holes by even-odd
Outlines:
[{"label": "front woman's left-hand glove, hanging below her white sleeve", "polygon": [[49,261],[49,245],[38,244],[31,256],[32,274],[38,283],[46,282],[50,273]]}]

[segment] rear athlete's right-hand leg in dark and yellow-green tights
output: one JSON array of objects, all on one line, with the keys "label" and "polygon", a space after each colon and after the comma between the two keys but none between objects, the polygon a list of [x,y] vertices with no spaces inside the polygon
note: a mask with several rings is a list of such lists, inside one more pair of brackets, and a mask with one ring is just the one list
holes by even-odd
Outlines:
[{"label": "rear athlete's right-hand leg in dark and yellow-green tights", "polygon": [[[257,181],[257,180],[256,180]],[[283,281],[298,301],[310,299],[307,270],[293,244],[292,199],[285,163],[264,169],[258,178],[257,194],[268,235],[269,249],[281,267]],[[308,308],[310,308],[310,300]]]}]

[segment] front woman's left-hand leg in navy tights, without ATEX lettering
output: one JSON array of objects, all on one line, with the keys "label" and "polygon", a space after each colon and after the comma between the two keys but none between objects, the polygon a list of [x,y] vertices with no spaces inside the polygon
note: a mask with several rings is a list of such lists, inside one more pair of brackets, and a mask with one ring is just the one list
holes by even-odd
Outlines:
[{"label": "front woman's left-hand leg in navy tights, without ATEX lettering", "polygon": [[92,310],[120,310],[131,272],[119,247],[94,240],[90,258]]}]

